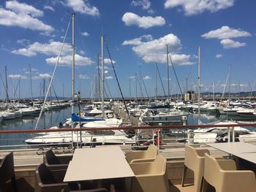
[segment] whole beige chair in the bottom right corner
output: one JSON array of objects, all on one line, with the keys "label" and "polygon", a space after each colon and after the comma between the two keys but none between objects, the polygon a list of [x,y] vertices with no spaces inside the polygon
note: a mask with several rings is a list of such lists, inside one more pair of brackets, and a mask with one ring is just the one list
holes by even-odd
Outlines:
[{"label": "whole beige chair in the bottom right corner", "polygon": [[233,160],[217,160],[206,154],[203,191],[212,185],[216,192],[256,191],[255,174],[252,171],[236,170]]}]

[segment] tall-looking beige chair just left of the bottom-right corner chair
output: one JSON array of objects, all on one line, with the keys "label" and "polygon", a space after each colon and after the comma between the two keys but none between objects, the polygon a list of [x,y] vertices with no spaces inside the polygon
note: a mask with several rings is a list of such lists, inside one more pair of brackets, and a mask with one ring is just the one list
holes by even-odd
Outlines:
[{"label": "tall-looking beige chair just left of the bottom-right corner chair", "polygon": [[194,185],[195,191],[199,192],[203,180],[203,170],[204,170],[204,158],[205,153],[210,153],[206,149],[197,149],[195,147],[185,145],[185,160],[184,160],[184,171],[182,176],[181,185],[184,187],[187,169],[194,172]]}]

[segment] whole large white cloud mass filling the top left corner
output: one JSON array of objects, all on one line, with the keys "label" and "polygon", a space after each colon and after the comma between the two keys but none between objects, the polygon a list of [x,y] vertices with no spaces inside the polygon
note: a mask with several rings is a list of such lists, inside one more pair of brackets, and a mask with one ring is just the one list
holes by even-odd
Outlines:
[{"label": "whole large white cloud mass filling the top left corner", "polygon": [[39,9],[18,1],[7,1],[6,8],[0,8],[0,25],[2,26],[18,26],[49,33],[54,30],[52,26],[36,18],[43,15]]}]

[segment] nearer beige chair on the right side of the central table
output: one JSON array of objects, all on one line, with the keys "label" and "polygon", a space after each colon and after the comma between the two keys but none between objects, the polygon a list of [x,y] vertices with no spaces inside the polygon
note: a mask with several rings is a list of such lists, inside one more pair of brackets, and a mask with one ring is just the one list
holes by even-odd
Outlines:
[{"label": "nearer beige chair on the right side of the central table", "polygon": [[166,158],[162,155],[157,155],[153,162],[129,164],[135,174],[131,183],[132,191],[169,191],[166,165]]}]

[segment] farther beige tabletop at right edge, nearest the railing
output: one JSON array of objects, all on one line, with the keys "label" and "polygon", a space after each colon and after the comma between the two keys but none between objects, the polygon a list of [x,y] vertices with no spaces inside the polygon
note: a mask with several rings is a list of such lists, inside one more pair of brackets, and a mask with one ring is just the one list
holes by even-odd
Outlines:
[{"label": "farther beige tabletop at right edge, nearest the railing", "polygon": [[226,153],[256,153],[256,145],[246,142],[222,142],[222,143],[208,143],[208,146],[222,150]]}]

